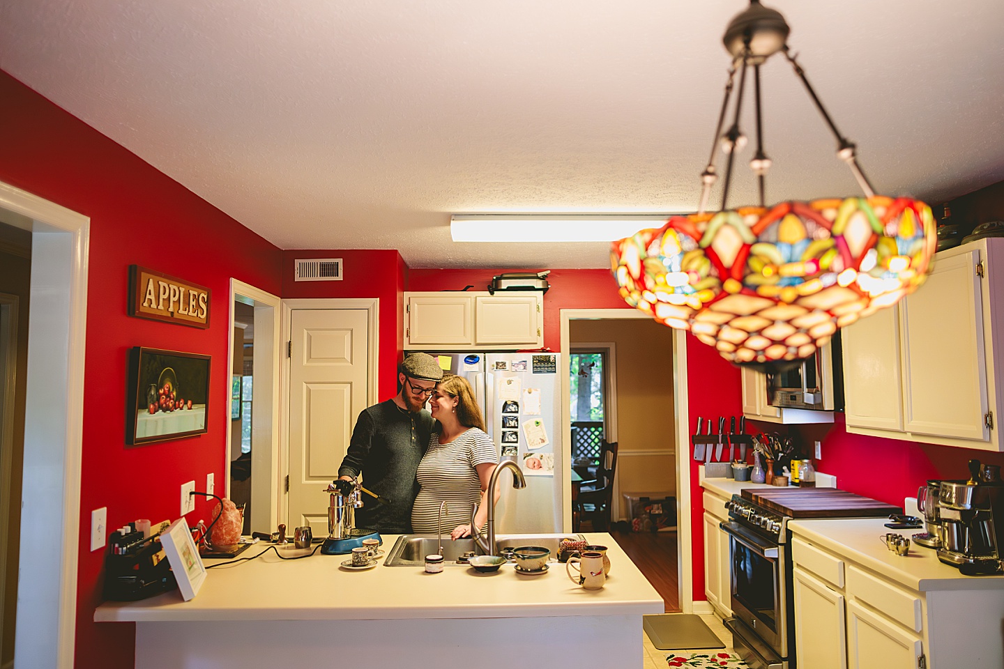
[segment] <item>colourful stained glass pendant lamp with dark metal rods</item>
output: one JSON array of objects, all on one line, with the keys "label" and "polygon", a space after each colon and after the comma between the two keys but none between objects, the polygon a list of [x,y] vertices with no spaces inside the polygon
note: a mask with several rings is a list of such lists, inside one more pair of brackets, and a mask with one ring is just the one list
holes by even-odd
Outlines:
[{"label": "colourful stained glass pendant lamp with dark metal rods", "polygon": [[[732,54],[725,99],[698,213],[612,243],[610,265],[628,304],[670,327],[689,330],[725,359],[764,371],[796,364],[838,328],[896,304],[920,286],[938,244],[931,208],[877,196],[786,43],[780,13],[752,0],[725,31]],[[780,52],[791,63],[837,141],[863,197],[764,205],[770,158],[761,131],[760,65]],[[729,185],[745,138],[739,127],[752,73],[756,147],[750,168],[760,204],[728,208]],[[731,125],[723,132],[738,74]],[[707,212],[718,181],[717,147],[726,154],[722,208]]]}]

